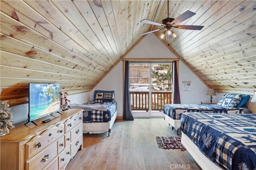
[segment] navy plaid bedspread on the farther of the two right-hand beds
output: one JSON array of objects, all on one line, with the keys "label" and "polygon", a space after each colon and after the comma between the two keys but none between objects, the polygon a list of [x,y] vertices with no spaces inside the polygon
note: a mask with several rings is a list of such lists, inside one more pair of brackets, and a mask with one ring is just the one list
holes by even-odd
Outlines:
[{"label": "navy plaid bedspread on the farther of the two right-hand beds", "polygon": [[164,105],[163,113],[172,119],[180,119],[182,113],[199,112],[199,113],[244,113],[242,108],[223,107],[219,105],[192,105],[192,104],[168,104]]}]

